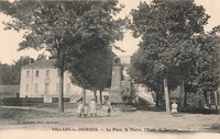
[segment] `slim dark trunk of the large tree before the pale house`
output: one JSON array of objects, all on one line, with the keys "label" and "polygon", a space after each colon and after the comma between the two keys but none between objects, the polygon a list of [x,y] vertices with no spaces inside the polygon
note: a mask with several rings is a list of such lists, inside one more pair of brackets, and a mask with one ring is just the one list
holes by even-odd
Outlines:
[{"label": "slim dark trunk of the large tree before the pale house", "polygon": [[61,78],[59,78],[58,112],[64,113],[64,70],[59,71],[61,71]]}]

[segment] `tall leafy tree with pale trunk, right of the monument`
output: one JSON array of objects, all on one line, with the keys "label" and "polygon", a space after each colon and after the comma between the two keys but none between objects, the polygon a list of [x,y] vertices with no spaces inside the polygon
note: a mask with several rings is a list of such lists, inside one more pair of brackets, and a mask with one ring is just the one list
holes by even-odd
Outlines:
[{"label": "tall leafy tree with pale trunk, right of the monument", "polygon": [[186,65],[185,57],[190,57],[190,55],[185,56],[183,53],[193,51],[190,38],[204,32],[204,25],[207,24],[209,15],[193,0],[155,0],[151,4],[141,2],[138,10],[132,10],[131,14],[133,36],[142,38],[139,50],[143,51],[145,61],[142,67],[150,66],[150,71],[145,72],[146,76],[151,77],[154,72],[164,79],[166,111],[169,113],[167,86],[173,86],[173,84],[169,85],[168,82],[188,78],[190,66]]}]

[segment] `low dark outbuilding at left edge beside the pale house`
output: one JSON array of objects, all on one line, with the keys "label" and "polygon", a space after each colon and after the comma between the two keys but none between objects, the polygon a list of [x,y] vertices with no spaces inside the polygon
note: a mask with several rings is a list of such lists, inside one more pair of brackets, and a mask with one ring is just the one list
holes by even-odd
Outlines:
[{"label": "low dark outbuilding at left edge beside the pale house", "polygon": [[20,85],[3,85],[0,84],[0,99],[18,97]]}]

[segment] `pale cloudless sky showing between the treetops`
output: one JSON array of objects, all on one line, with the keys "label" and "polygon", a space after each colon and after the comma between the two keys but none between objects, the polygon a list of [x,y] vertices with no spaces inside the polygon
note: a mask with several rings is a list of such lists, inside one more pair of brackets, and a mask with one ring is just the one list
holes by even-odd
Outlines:
[{"label": "pale cloudless sky showing between the treetops", "polygon": [[[120,3],[124,4],[124,9],[119,14],[120,18],[129,15],[131,9],[136,9],[140,1],[150,2],[151,0],[119,0]],[[210,31],[213,26],[220,25],[220,0],[195,0],[198,5],[204,5],[206,13],[211,18],[209,23],[205,26],[206,31]],[[18,60],[20,56],[30,56],[36,58],[38,54],[43,51],[36,51],[34,49],[26,49],[18,51],[19,43],[23,39],[22,33],[15,31],[4,31],[2,21],[10,21],[10,18],[0,13],[0,61],[1,63],[12,63],[13,60]],[[127,31],[122,42],[117,42],[116,45],[125,50],[120,53],[113,50],[119,56],[131,56],[136,49],[140,39],[133,38],[130,31]]]}]

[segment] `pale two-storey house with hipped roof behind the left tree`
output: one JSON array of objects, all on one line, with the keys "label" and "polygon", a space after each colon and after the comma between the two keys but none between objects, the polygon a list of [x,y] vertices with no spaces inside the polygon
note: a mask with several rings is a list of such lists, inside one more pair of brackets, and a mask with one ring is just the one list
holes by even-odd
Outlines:
[{"label": "pale two-storey house with hipped roof behind the left tree", "polygon": [[[52,97],[58,97],[59,72],[54,63],[55,59],[48,59],[22,67],[20,96],[44,97],[45,103],[51,103]],[[81,95],[81,88],[74,85],[69,77],[68,72],[64,73],[64,97],[75,99]]]}]

